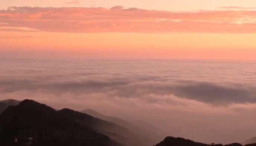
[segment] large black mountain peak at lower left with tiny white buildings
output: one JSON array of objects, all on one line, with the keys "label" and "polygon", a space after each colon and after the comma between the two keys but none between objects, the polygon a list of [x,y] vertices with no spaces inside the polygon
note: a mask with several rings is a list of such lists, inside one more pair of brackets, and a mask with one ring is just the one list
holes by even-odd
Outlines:
[{"label": "large black mountain peak at lower left with tiny white buildings", "polygon": [[22,145],[28,137],[38,146],[124,146],[45,104],[23,100],[0,114],[0,146]]}]

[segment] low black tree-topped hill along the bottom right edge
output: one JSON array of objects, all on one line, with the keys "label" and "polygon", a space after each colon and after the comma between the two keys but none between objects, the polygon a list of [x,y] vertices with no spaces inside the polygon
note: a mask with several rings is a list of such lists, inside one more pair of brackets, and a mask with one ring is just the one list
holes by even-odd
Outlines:
[{"label": "low black tree-topped hill along the bottom right edge", "polygon": [[[240,143],[231,143],[228,145],[222,145],[222,144],[204,144],[199,142],[194,142],[189,139],[184,138],[175,138],[175,137],[166,137],[162,142],[160,142],[157,145],[154,146],[242,146]],[[256,146],[256,143],[248,144],[246,146]]]}]

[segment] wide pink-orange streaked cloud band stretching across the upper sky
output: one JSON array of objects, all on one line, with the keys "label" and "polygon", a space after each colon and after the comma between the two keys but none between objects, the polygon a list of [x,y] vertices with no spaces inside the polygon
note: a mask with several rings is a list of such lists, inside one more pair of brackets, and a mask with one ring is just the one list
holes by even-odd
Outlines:
[{"label": "wide pink-orange streaked cloud band stretching across the upper sky", "polygon": [[256,33],[256,11],[10,7],[0,10],[0,30],[12,30],[1,26],[65,33]]}]

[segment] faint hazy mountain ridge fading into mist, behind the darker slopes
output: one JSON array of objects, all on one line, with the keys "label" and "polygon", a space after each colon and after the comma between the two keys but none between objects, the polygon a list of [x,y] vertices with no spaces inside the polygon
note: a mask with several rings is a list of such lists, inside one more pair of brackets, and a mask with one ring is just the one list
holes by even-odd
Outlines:
[{"label": "faint hazy mountain ridge fading into mist, behind the darker slopes", "polygon": [[93,117],[97,117],[102,120],[116,123],[117,125],[125,127],[129,130],[132,130],[132,132],[134,132],[137,135],[141,135],[143,137],[148,137],[148,139],[151,139],[153,141],[153,143],[158,143],[162,139],[164,139],[164,137],[169,135],[166,132],[162,133],[163,130],[160,130],[160,132],[159,132],[159,129],[151,129],[151,127],[147,127],[147,126],[141,127],[141,126],[132,124],[131,122],[128,122],[126,120],[119,119],[117,117],[102,115],[101,113],[96,112],[95,110],[92,110],[92,109],[83,110],[83,111],[81,111],[81,113],[86,113]]}]

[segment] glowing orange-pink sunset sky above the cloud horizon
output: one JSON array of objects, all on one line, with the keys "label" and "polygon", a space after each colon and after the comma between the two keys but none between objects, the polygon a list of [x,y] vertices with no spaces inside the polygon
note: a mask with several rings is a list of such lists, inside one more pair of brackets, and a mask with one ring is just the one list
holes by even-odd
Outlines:
[{"label": "glowing orange-pink sunset sky above the cloud horizon", "polygon": [[255,0],[1,0],[0,56],[256,59]]}]

